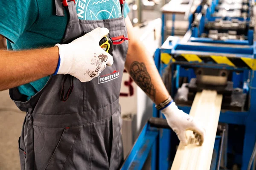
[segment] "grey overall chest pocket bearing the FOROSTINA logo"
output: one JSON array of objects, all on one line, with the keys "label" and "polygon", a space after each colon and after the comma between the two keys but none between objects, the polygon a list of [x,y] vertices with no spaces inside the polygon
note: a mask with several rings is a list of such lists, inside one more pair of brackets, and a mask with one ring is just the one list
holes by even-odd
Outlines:
[{"label": "grey overall chest pocket bearing the FOROSTINA logo", "polygon": [[[125,27],[110,28],[109,30],[109,37],[122,35],[127,37]],[[106,66],[99,77],[84,83],[84,94],[86,94],[84,95],[84,102],[86,102],[84,105],[87,106],[87,111],[104,108],[119,98],[127,51],[128,41],[113,45],[113,65]]]}]

